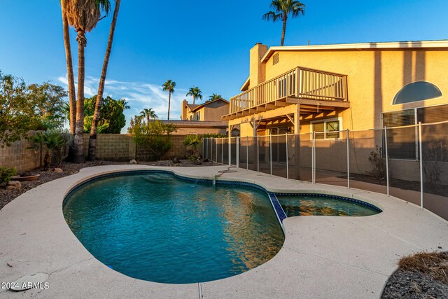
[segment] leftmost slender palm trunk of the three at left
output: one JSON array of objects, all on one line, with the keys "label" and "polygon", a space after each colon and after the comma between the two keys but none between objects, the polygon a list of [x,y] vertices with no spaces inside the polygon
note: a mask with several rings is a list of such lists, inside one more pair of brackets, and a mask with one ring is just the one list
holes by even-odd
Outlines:
[{"label": "leftmost slender palm trunk of the three at left", "polygon": [[64,14],[62,6],[62,29],[64,31],[65,60],[67,64],[67,81],[69,85],[69,103],[70,103],[70,134],[75,134],[76,128],[76,93],[75,78],[73,76],[73,61],[71,60],[69,22]]}]

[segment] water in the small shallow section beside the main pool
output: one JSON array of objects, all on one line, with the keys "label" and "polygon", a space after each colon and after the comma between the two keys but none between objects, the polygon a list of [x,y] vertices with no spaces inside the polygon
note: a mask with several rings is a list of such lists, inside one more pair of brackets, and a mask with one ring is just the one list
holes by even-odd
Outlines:
[{"label": "water in the small shallow section beside the main pool", "polygon": [[379,211],[364,204],[320,195],[277,195],[286,216],[370,216]]}]

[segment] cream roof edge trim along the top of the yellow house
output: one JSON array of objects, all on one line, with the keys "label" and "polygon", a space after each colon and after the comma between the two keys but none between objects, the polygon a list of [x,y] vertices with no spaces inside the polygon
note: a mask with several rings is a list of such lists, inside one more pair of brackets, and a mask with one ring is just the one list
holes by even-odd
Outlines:
[{"label": "cream roof edge trim along the top of the yellow house", "polygon": [[[309,51],[309,50],[375,50],[375,49],[404,49],[404,48],[448,48],[448,40],[440,41],[394,41],[385,43],[337,43],[333,45],[313,46],[276,46],[270,47],[261,61],[269,60],[276,51]],[[246,81],[247,82],[247,81]],[[243,87],[246,85],[244,83]]]}]

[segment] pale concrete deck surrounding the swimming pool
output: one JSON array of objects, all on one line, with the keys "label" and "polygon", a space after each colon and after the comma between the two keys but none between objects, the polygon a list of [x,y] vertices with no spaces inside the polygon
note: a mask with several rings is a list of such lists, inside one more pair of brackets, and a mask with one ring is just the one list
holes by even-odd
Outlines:
[{"label": "pale concrete deck surrounding the swimming pool", "polygon": [[[127,277],[94,258],[73,235],[62,214],[64,195],[97,174],[167,169],[211,179],[216,167],[109,165],[81,169],[50,181],[0,210],[0,282],[36,272],[50,274],[48,289],[1,298],[379,298],[401,256],[448,251],[448,221],[395,197],[311,184],[235,169],[219,179],[258,183],[274,192],[316,192],[355,197],[384,211],[367,217],[286,218],[286,239],[267,263],[235,277],[201,284],[158,284]],[[9,265],[12,267],[10,267]]]}]

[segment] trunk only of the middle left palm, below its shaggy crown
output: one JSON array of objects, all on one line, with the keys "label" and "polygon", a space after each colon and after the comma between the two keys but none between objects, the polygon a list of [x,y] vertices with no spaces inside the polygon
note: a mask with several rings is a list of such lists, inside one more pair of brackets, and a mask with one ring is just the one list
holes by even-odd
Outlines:
[{"label": "trunk only of the middle left palm, below its shaggy crown", "polygon": [[84,78],[85,78],[85,60],[84,48],[87,46],[85,32],[78,31],[76,36],[78,41],[78,99],[76,102],[76,130],[75,130],[75,157],[76,163],[84,162]]}]

